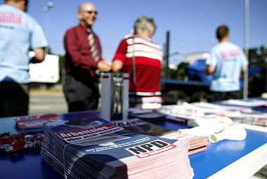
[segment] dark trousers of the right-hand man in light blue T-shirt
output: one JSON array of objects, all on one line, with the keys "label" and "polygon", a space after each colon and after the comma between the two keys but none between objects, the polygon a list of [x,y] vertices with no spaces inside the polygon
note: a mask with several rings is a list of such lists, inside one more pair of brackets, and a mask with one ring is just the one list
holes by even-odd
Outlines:
[{"label": "dark trousers of the right-hand man in light blue T-shirt", "polygon": [[240,99],[242,98],[241,91],[229,91],[229,92],[211,92],[209,95],[209,102],[215,102],[220,100]]}]

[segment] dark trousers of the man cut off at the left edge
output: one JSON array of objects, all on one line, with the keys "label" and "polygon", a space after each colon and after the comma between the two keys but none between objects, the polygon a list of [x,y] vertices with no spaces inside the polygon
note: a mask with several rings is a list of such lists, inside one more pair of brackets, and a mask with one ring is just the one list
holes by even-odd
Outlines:
[{"label": "dark trousers of the man cut off at the left edge", "polygon": [[28,115],[29,85],[0,81],[0,117]]}]

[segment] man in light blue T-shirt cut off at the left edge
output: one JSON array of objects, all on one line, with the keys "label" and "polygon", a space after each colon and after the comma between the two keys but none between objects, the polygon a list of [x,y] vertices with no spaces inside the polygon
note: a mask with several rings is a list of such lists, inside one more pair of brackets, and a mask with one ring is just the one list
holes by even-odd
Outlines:
[{"label": "man in light blue T-shirt cut off at the left edge", "polygon": [[0,6],[0,117],[28,114],[29,63],[44,60],[48,46],[41,26],[25,13],[27,3],[6,0]]}]

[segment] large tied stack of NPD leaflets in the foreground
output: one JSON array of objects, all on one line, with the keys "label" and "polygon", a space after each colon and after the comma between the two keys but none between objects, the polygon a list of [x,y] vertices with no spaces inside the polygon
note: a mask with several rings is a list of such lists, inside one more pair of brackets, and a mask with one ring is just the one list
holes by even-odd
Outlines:
[{"label": "large tied stack of NPD leaflets in the foreground", "polygon": [[104,119],[44,124],[43,159],[65,178],[193,178],[187,141],[131,133]]}]

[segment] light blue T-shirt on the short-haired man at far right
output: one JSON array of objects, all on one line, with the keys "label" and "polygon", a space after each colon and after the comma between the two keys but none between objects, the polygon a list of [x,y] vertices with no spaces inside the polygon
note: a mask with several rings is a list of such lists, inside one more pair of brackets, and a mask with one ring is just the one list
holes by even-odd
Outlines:
[{"label": "light blue T-shirt on the short-haired man at far right", "polygon": [[216,67],[210,91],[239,91],[242,67],[248,65],[242,49],[230,42],[223,42],[211,49],[207,65]]}]

